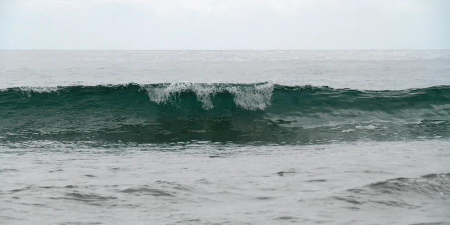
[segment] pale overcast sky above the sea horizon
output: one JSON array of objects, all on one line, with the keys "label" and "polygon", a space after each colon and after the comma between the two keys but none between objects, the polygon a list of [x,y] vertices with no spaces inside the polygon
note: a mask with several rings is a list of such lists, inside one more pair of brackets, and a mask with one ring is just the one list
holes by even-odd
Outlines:
[{"label": "pale overcast sky above the sea horizon", "polygon": [[450,49],[450,0],[0,0],[0,49]]}]

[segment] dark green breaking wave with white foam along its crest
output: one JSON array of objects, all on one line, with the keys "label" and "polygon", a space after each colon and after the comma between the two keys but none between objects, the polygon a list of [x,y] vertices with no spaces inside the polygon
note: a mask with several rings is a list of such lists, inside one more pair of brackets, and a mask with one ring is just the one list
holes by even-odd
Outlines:
[{"label": "dark green breaking wave with white foam along its crest", "polygon": [[358,91],[125,84],[0,91],[0,140],[297,142],[448,138],[450,86]]}]

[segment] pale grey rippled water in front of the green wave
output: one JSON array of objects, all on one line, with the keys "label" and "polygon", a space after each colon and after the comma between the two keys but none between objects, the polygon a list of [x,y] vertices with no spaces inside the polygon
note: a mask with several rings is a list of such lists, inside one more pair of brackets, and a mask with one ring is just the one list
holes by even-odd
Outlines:
[{"label": "pale grey rippled water in front of the green wave", "polygon": [[446,224],[450,219],[445,141],[79,144],[37,141],[3,150],[4,223]]}]

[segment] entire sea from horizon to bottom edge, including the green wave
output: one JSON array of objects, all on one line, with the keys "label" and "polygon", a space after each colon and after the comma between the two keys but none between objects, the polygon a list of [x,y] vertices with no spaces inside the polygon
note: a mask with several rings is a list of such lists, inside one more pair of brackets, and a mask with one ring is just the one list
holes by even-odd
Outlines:
[{"label": "entire sea from horizon to bottom edge, including the green wave", "polygon": [[450,50],[0,50],[0,224],[450,224]]}]

